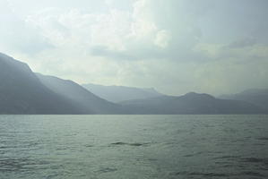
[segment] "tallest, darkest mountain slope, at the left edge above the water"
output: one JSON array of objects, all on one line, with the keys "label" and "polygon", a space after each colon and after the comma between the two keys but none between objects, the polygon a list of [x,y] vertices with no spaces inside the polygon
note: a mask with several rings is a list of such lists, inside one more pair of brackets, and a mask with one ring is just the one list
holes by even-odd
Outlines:
[{"label": "tallest, darkest mountain slope, at the left edge above the water", "polygon": [[0,114],[81,114],[43,85],[27,64],[0,53]]}]

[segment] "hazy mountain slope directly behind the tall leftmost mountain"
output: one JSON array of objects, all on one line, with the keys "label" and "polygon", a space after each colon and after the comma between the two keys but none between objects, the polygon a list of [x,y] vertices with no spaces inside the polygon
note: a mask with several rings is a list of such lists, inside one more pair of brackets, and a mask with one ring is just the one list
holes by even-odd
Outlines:
[{"label": "hazy mountain slope directly behind the tall leftmost mountain", "polygon": [[56,94],[69,98],[78,104],[86,114],[121,114],[123,109],[120,105],[109,102],[103,98],[99,98],[89,90],[84,89],[79,84],[62,80],[54,76],[46,76],[36,73],[39,80],[48,87],[49,90]]}]

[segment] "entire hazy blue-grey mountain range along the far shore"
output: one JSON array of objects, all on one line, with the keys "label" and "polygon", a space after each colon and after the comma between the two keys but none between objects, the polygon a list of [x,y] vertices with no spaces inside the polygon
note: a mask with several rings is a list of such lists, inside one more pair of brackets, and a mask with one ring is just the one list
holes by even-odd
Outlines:
[{"label": "entire hazy blue-grey mountain range along the far shore", "polygon": [[172,97],[153,89],[81,86],[34,73],[27,64],[0,54],[0,114],[268,114],[267,101],[267,90],[214,98],[194,92]]}]

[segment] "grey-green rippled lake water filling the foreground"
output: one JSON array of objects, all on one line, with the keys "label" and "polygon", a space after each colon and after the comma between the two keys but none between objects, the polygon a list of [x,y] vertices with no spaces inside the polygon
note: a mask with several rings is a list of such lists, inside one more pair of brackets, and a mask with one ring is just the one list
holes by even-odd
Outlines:
[{"label": "grey-green rippled lake water filling the foreground", "polygon": [[0,115],[0,178],[268,178],[268,115]]}]

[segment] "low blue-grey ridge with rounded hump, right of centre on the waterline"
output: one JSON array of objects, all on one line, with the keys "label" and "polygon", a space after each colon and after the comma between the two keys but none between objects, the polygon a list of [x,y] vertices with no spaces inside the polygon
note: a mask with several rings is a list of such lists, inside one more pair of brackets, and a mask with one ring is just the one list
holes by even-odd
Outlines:
[{"label": "low blue-grey ridge with rounded hump, right of centre on the waterline", "polygon": [[251,103],[214,98],[208,94],[187,93],[180,97],[161,96],[135,99],[120,103],[131,108],[132,114],[155,115],[212,115],[212,114],[264,114],[260,107]]}]

